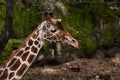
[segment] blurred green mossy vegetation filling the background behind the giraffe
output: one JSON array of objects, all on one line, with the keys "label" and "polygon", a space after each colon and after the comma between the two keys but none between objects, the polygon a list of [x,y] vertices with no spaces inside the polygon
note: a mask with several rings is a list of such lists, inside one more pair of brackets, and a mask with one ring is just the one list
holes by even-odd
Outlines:
[{"label": "blurred green mossy vegetation filling the background behind the giraffe", "polygon": [[[48,8],[54,9],[56,17],[62,19],[64,27],[79,41],[79,54],[120,47],[119,7],[119,0],[18,0],[14,5],[15,34],[0,55],[0,63],[44,20],[43,12]],[[6,3],[0,0],[0,31],[5,12]]]}]

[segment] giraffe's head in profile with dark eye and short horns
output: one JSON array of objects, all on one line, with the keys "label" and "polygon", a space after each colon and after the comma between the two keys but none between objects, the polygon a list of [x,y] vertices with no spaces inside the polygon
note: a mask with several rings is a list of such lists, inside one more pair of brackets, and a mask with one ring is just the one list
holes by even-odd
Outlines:
[{"label": "giraffe's head in profile with dark eye and short horns", "polygon": [[53,14],[46,16],[43,23],[43,39],[49,42],[68,43],[78,48],[78,42],[64,29],[61,20],[54,18]]}]

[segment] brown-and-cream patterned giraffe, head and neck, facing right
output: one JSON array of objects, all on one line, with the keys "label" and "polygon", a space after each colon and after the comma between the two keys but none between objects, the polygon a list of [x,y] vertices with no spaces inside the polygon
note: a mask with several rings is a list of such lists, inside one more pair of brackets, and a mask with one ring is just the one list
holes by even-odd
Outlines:
[{"label": "brown-and-cream patterned giraffe, head and neck, facing right", "polygon": [[0,80],[20,80],[38,55],[45,42],[67,43],[78,48],[78,42],[63,28],[59,19],[43,21],[23,44],[0,67]]}]

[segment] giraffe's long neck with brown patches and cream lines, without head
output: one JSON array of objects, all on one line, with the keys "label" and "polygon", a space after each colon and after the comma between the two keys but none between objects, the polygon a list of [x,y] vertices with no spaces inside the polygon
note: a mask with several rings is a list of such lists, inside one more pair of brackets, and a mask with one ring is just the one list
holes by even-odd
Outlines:
[{"label": "giraffe's long neck with brown patches and cream lines, without head", "polygon": [[44,43],[41,33],[41,28],[35,29],[23,45],[14,52],[14,56],[0,69],[0,80],[18,80],[22,78]]}]

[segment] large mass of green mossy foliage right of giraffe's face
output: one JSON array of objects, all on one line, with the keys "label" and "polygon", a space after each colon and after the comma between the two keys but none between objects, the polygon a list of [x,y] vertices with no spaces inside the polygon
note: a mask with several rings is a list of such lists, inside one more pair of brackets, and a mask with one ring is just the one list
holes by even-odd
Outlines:
[{"label": "large mass of green mossy foliage right of giraffe's face", "polygon": [[[117,25],[113,25],[117,22],[115,10],[110,9],[105,3],[96,3],[96,1],[87,3],[81,7],[66,5],[66,8],[69,11],[69,15],[66,15],[63,19],[65,28],[67,28],[78,41],[80,40],[79,44],[82,46],[84,53],[93,52],[101,39],[105,38],[107,44],[113,42],[115,38],[113,34],[115,33],[115,29],[117,29]],[[63,18],[63,16],[61,17]],[[108,24],[108,28],[104,28],[104,31],[100,32],[102,35],[100,35],[99,39],[96,39],[97,37],[95,35],[99,34],[99,27],[101,26],[100,20],[103,21],[103,25]],[[104,43],[103,45],[106,45]]]}]

